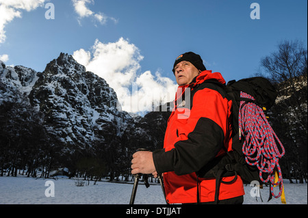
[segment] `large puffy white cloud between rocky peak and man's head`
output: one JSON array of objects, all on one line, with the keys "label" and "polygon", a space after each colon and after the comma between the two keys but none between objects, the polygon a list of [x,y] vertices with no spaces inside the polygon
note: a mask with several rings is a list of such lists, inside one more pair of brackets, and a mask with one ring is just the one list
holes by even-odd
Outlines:
[{"label": "large puffy white cloud between rocky peak and man's head", "polygon": [[159,72],[139,73],[144,57],[128,40],[104,44],[96,40],[90,51],[79,49],[73,57],[107,81],[114,88],[124,111],[151,111],[152,103],[167,103],[174,99],[177,85]]}]

